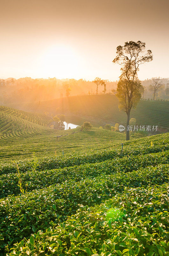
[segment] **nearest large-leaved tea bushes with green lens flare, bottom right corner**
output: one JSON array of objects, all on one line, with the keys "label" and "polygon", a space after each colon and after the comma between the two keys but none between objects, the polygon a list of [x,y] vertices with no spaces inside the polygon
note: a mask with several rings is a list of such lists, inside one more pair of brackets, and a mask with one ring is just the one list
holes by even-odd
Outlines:
[{"label": "nearest large-leaved tea bushes with green lens flare, bottom right corner", "polygon": [[[22,240],[8,255],[168,255],[167,200],[164,184],[126,189],[94,207],[79,205],[75,215]],[[108,220],[111,209],[123,215]]]}]

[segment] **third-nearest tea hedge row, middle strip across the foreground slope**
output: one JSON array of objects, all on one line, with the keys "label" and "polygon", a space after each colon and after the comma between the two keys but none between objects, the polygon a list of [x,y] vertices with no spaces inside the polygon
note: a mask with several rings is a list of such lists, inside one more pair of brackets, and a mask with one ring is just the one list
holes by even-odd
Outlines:
[{"label": "third-nearest tea hedge row, middle strip across the foreground slope", "polygon": [[[148,154],[143,156],[125,156],[115,158],[95,164],[75,165],[63,169],[28,171],[20,174],[22,187],[27,191],[48,187],[52,184],[61,183],[66,180],[83,180],[88,177],[97,177],[101,174],[111,174],[114,172],[132,172],[140,167],[149,165],[167,164],[169,151],[162,153]],[[18,195],[18,176],[16,173],[4,174],[0,176],[0,197],[8,195]]]}]

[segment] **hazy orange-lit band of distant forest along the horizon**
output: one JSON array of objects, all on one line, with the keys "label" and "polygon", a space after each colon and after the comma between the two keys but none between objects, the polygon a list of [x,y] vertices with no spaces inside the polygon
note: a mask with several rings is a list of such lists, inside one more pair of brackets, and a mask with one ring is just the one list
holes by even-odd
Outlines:
[{"label": "hazy orange-lit band of distant forest along the horizon", "polygon": [[[156,93],[155,100],[166,100],[169,95],[169,78],[161,78],[160,81],[163,86]],[[106,84],[106,91],[104,91],[104,86],[100,85],[98,94],[116,94],[118,81],[104,80],[104,82]],[[142,85],[144,86],[142,98],[152,99],[152,92],[149,90],[151,84],[152,79],[142,81]],[[18,107],[23,104],[25,105],[25,103],[95,93],[96,84],[84,79],[57,79],[55,77],[48,79],[32,79],[31,77],[0,79],[0,105]]]}]

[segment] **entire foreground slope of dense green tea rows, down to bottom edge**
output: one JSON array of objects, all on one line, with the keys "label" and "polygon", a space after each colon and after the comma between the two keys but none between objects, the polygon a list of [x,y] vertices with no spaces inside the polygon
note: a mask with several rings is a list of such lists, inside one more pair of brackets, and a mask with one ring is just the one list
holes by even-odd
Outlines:
[{"label": "entire foreground slope of dense green tea rows, down to bottom edge", "polygon": [[169,255],[168,135],[2,159],[1,255]]}]

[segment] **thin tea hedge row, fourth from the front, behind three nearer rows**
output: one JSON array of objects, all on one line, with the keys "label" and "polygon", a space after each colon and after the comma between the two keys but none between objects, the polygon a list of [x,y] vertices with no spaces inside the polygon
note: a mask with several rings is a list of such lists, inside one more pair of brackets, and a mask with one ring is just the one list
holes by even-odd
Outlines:
[{"label": "thin tea hedge row, fourth from the front, behind three nearer rows", "polygon": [[[152,139],[151,139],[152,140]],[[146,155],[150,153],[157,153],[161,151],[165,151],[169,149],[169,143],[163,142],[159,145],[154,145],[150,147],[151,140],[149,138],[148,144],[139,144],[136,141],[134,143],[129,144],[126,143],[126,148],[123,150],[123,156],[130,156],[130,155]],[[97,163],[102,162],[105,160],[113,159],[115,157],[122,157],[120,154],[121,150],[112,150],[112,149],[105,149],[96,151],[94,153],[87,153],[85,155],[74,154],[67,155],[67,156],[59,156],[59,157],[47,157],[47,158],[40,158],[38,161],[38,169],[39,170],[51,170],[55,168],[64,168],[74,165],[81,165],[86,163]],[[32,161],[18,161],[20,172],[26,172],[32,170]],[[17,168],[15,163],[1,163],[0,164],[0,174],[4,173],[16,173]]]}]

